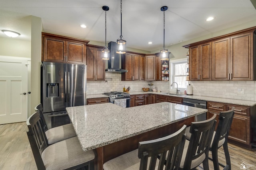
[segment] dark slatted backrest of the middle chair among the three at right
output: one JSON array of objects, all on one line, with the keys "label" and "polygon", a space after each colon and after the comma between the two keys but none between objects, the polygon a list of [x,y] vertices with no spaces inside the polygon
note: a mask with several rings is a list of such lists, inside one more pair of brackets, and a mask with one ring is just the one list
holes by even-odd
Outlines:
[{"label": "dark slatted backrest of the middle chair among the three at right", "polygon": [[[197,158],[202,156],[202,154],[205,154],[205,159],[207,159],[208,161],[210,143],[212,141],[212,136],[216,125],[215,119],[216,114],[214,114],[210,119],[207,119],[205,121],[197,121],[191,123],[191,137],[184,162],[184,170],[190,170],[192,160],[196,160]],[[202,162],[198,162],[198,165],[201,163]],[[195,165],[193,166],[196,167]]]}]

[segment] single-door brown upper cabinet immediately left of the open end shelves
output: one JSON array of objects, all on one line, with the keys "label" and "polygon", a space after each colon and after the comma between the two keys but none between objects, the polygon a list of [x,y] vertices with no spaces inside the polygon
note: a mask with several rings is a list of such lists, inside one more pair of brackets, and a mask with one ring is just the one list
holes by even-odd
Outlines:
[{"label": "single-door brown upper cabinet immediately left of the open end shelves", "polygon": [[146,55],[146,81],[156,80],[156,64],[155,55]]}]

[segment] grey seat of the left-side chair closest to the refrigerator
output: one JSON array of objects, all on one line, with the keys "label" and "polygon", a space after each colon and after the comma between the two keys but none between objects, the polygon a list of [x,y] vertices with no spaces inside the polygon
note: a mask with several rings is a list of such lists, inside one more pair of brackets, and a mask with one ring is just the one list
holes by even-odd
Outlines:
[{"label": "grey seat of the left-side chair closest to the refrigerator", "polygon": [[73,125],[66,124],[58,127],[54,127],[45,132],[49,145],[75,137],[76,132]]}]

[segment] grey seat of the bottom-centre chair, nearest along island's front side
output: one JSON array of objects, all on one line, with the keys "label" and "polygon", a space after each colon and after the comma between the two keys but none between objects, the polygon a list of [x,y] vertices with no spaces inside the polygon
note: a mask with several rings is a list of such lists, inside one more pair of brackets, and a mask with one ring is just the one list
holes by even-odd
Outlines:
[{"label": "grey seat of the bottom-centre chair, nearest along island's front side", "polygon": [[[159,160],[157,159],[158,164]],[[150,161],[148,161],[149,166]],[[139,170],[140,158],[138,158],[138,149],[132,150],[126,154],[122,154],[114,159],[103,164],[104,170]],[[158,169],[156,166],[155,170]]]}]

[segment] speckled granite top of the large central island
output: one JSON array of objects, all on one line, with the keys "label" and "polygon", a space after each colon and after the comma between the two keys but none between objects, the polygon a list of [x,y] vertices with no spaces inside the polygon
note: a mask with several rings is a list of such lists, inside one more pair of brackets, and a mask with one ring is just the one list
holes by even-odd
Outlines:
[{"label": "speckled granite top of the large central island", "polygon": [[105,103],[67,107],[66,110],[84,151],[207,111],[169,102],[128,108]]}]

